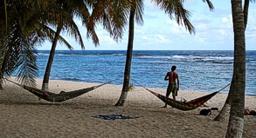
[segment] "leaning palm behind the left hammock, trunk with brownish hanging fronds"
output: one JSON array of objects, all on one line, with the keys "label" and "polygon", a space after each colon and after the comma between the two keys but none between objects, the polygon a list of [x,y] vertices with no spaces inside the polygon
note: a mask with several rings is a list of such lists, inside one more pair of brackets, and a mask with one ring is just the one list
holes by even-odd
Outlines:
[{"label": "leaning palm behind the left hammock, trunk with brownish hanging fronds", "polygon": [[[82,20],[87,29],[87,38],[92,37],[93,43],[95,44],[95,46],[97,46],[99,45],[99,39],[94,30],[95,25],[97,23],[101,23],[103,25],[103,28],[107,30],[107,32],[109,32],[110,36],[112,36],[114,40],[118,42],[122,37],[124,26],[127,24],[126,9],[129,8],[130,4],[128,3],[128,1],[124,0],[76,0],[72,3],[70,3],[70,1],[61,1],[59,5],[62,5],[62,9],[65,10],[65,12],[67,13],[66,16],[69,17],[69,22],[67,23],[73,23],[73,14],[75,14],[75,16],[78,16]],[[86,6],[88,7],[88,9]],[[92,10],[91,15],[89,13],[89,10]],[[46,91],[48,90],[49,77],[59,32],[61,31],[63,25],[64,24],[61,22],[58,24],[55,38],[52,43],[49,60],[45,69],[42,89]],[[72,25],[75,27],[75,23],[73,23]],[[70,29],[74,28],[72,27]],[[79,30],[75,31],[79,33]],[[80,36],[80,34],[78,36]],[[81,37],[80,45],[81,48],[84,49]]]}]

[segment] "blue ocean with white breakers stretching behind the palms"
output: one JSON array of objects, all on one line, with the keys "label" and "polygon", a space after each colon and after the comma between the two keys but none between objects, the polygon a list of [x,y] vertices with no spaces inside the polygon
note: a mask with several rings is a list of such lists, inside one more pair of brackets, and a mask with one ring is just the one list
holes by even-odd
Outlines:
[{"label": "blue ocean with white breakers stretching behind the palms", "polygon": [[[50,50],[38,50],[38,78],[43,78]],[[233,51],[134,50],[130,81],[134,86],[166,89],[163,78],[172,65],[180,89],[214,92],[232,80]],[[122,85],[126,50],[57,50],[50,79]],[[256,51],[246,51],[246,95],[256,95]],[[139,83],[137,83],[139,82]],[[228,93],[224,89],[222,93]]]}]

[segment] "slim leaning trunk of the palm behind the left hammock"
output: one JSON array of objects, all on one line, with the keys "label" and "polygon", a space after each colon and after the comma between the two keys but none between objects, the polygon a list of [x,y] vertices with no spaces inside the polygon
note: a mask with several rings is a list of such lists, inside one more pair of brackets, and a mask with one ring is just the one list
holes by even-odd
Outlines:
[{"label": "slim leaning trunk of the palm behind the left hammock", "polygon": [[45,69],[45,76],[44,76],[44,80],[43,80],[43,84],[42,84],[42,90],[44,91],[49,91],[49,79],[50,79],[50,73],[51,73],[51,69],[52,69],[52,62],[54,59],[54,54],[55,54],[55,49],[59,40],[59,34],[60,31],[62,30],[62,25],[59,25],[57,28],[57,31],[55,33],[53,42],[52,42],[52,49],[50,51],[50,55],[49,55],[49,59],[46,65],[46,69]]}]

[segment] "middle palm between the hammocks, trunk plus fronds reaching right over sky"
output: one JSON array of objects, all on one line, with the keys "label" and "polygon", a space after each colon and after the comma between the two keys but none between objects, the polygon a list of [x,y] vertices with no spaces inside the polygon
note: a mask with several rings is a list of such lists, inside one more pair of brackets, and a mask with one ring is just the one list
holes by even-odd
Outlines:
[{"label": "middle palm between the hammocks, trunk plus fronds reaching right over sky", "polygon": [[[208,3],[210,10],[213,10],[213,5],[209,0],[203,0],[204,2]],[[126,101],[128,95],[128,85],[129,85],[129,76],[130,76],[130,69],[131,69],[131,61],[133,55],[133,41],[134,41],[134,20],[138,21],[140,19],[142,21],[142,10],[143,10],[143,3],[140,0],[132,0],[132,7],[130,10],[129,16],[129,31],[128,31],[128,50],[127,50],[127,58],[126,58],[126,65],[124,71],[124,81],[123,87],[121,90],[121,96],[115,106],[123,106],[124,102]],[[183,1],[165,1],[165,0],[151,0],[151,2],[156,3],[157,6],[160,7],[161,10],[164,10],[165,13],[170,15],[174,14],[176,17],[176,22],[178,24],[184,24],[185,28],[189,30],[190,34],[195,33],[195,29],[189,21],[190,12],[183,8]],[[136,18],[135,18],[135,15]]]}]

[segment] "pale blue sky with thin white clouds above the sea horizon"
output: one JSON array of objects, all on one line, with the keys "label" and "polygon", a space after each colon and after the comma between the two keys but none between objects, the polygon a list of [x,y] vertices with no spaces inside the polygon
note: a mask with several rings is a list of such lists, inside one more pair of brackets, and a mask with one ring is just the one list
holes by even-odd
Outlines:
[{"label": "pale blue sky with thin white clouds above the sea horizon", "polygon": [[[157,8],[150,0],[144,0],[143,25],[135,25],[134,50],[233,50],[232,10],[231,1],[211,0],[215,10],[210,11],[202,0],[187,0],[184,7],[190,10],[190,23],[196,28],[195,35],[190,35],[183,26],[163,10]],[[254,17],[253,17],[254,16]],[[246,28],[246,50],[256,50],[256,3],[250,3],[248,23]],[[77,23],[81,27],[80,22]],[[95,47],[92,41],[86,39],[86,30],[80,28],[80,33],[86,50],[126,50],[128,45],[128,28],[121,42],[116,43],[102,30],[96,30],[100,46]],[[71,36],[65,36],[75,50],[80,45]],[[51,43],[45,43],[38,49],[51,49]],[[66,49],[58,44],[57,49]]]}]

